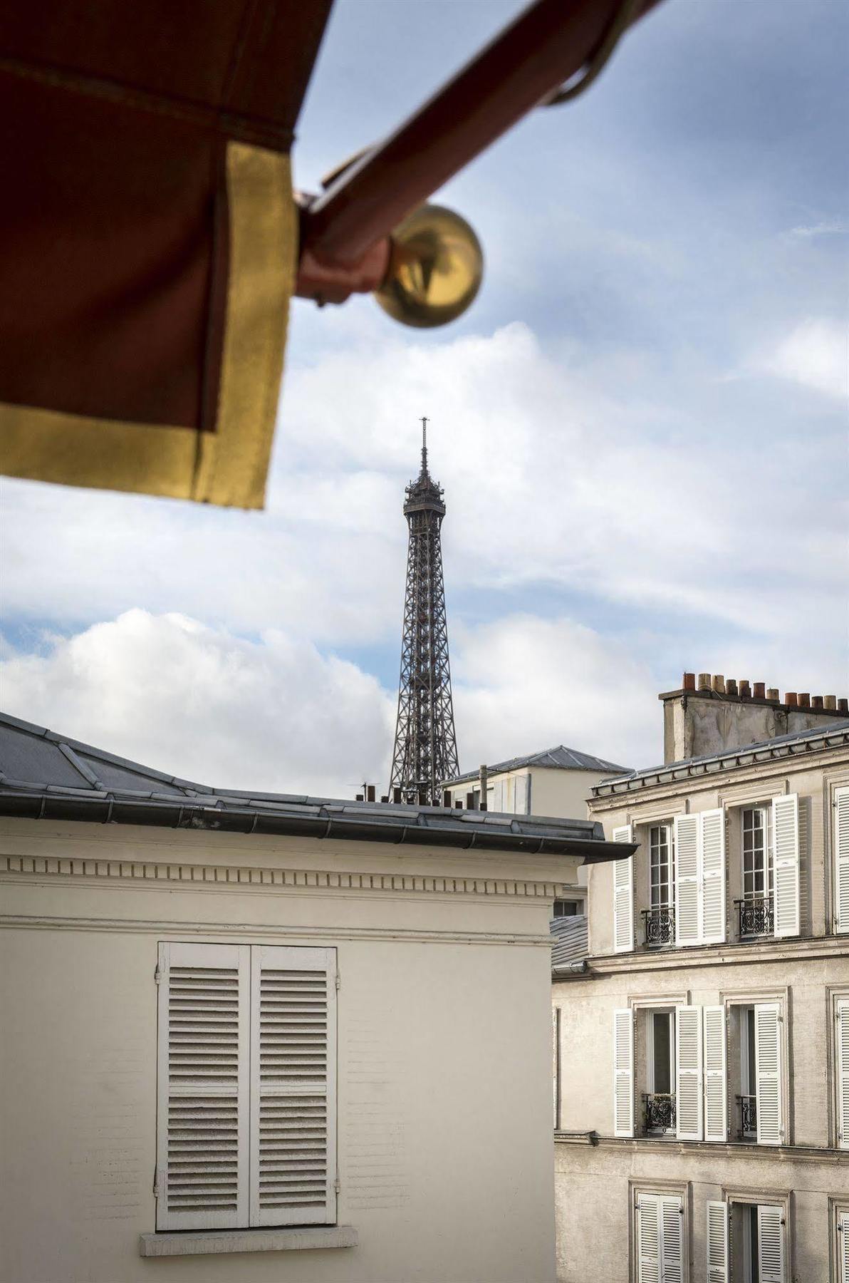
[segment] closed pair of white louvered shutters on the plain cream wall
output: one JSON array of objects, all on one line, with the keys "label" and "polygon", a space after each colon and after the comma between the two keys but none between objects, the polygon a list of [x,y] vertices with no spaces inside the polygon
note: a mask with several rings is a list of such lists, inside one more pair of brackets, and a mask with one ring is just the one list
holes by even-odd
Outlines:
[{"label": "closed pair of white louvered shutters on the plain cream wall", "polygon": [[335,1224],[336,951],[159,946],[156,1229]]}]

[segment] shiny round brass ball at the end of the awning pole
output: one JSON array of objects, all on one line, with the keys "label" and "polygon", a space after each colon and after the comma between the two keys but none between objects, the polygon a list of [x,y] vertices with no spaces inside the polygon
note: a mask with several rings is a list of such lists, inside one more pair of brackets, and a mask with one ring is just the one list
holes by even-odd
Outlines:
[{"label": "shiny round brass ball at the end of the awning pole", "polygon": [[483,251],[464,218],[442,205],[422,205],[392,232],[383,284],[374,298],[404,325],[448,325],[481,287]]}]

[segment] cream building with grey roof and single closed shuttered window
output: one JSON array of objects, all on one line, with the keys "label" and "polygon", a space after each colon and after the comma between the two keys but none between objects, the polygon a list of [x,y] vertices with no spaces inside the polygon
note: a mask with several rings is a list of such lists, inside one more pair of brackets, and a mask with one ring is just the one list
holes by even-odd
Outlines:
[{"label": "cream building with grey roof and single closed shuttered window", "polygon": [[616,854],[0,717],[0,1278],[553,1283],[548,924]]}]

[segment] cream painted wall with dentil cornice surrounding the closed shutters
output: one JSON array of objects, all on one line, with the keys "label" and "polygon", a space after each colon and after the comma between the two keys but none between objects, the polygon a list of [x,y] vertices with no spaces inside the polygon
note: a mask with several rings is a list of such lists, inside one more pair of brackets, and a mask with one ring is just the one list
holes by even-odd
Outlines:
[{"label": "cream painted wall with dentil cornice surrounding the closed shutters", "polygon": [[[555,888],[536,894],[522,881],[517,893],[503,879],[558,865],[572,878],[575,861],[40,821],[4,824],[0,851],[10,857],[0,883],[4,1283],[551,1283]],[[380,866],[398,885],[236,880],[249,866],[271,876],[310,863]],[[154,865],[164,876],[142,876]],[[230,880],[186,880],[209,869]],[[481,889],[404,890],[423,869],[422,888],[464,869]],[[155,1219],[163,939],[337,948],[337,1219],[359,1246],[139,1256]]]}]

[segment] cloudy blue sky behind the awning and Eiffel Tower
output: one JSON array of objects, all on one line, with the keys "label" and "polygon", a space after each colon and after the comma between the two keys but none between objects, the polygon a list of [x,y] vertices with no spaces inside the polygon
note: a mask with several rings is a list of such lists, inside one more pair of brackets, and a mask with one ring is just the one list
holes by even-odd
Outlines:
[{"label": "cloudy blue sky behind the awning and Eiffel Tower", "polygon": [[[337,0],[298,182],[513,12]],[[212,783],[382,780],[421,414],[463,765],[646,765],[684,668],[845,694],[848,37],[843,0],[666,0],[440,194],[487,258],[462,321],[296,300],[265,513],[5,482],[4,706]]]}]

